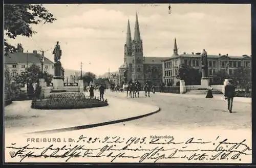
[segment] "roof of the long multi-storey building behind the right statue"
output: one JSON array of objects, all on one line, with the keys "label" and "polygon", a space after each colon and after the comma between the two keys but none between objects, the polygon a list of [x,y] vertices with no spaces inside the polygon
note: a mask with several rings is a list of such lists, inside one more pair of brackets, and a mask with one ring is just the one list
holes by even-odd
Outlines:
[{"label": "roof of the long multi-storey building behind the right statue", "polygon": [[[169,60],[173,60],[179,57],[194,57],[194,58],[201,58],[201,54],[180,54],[174,57],[170,57],[168,59],[165,59],[163,61],[169,61]],[[218,58],[227,58],[227,59],[251,59],[250,56],[248,55],[243,55],[243,56],[233,56],[233,55],[207,55],[208,59],[218,59]]]}]

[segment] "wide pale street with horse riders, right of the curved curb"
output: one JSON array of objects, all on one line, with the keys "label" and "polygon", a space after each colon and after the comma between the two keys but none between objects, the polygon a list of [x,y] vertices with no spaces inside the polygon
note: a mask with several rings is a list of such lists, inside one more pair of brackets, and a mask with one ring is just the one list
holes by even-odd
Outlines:
[{"label": "wide pale street with horse riders, right of the curved curb", "polygon": [[[224,129],[251,129],[251,103],[233,102],[233,113],[227,113],[227,102],[216,99],[190,98],[186,95],[169,96],[156,93],[139,98],[126,98],[126,92],[106,91],[105,96],[157,105],[160,112],[152,116],[127,122],[126,125],[159,128],[198,128],[215,127]],[[215,95],[214,95],[215,96]],[[236,99],[236,98],[234,98]],[[139,109],[138,109],[139,110]]]}]

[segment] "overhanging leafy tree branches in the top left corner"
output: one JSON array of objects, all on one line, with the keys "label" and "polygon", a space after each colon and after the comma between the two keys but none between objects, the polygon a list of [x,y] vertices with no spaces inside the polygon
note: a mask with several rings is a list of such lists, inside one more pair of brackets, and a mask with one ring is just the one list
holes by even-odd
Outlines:
[{"label": "overhanging leafy tree branches in the top left corner", "polygon": [[[32,4],[10,4],[4,5],[4,30],[8,38],[15,39],[17,36],[31,37],[37,33],[32,30],[31,25],[41,22],[52,23],[56,20],[53,14],[43,5]],[[4,39],[4,52],[17,52],[17,48],[10,45]]]}]

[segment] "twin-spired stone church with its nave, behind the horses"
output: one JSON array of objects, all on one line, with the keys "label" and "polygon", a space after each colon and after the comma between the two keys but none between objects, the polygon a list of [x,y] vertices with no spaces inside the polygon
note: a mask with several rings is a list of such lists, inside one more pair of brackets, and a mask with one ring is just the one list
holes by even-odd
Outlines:
[{"label": "twin-spired stone church with its nave, behind the horses", "polygon": [[122,85],[137,79],[144,83],[147,80],[159,86],[162,82],[162,60],[167,57],[144,57],[143,43],[140,37],[138,14],[136,13],[134,39],[132,40],[130,21],[128,20],[126,43],[124,44],[124,63],[118,69],[119,83]]}]

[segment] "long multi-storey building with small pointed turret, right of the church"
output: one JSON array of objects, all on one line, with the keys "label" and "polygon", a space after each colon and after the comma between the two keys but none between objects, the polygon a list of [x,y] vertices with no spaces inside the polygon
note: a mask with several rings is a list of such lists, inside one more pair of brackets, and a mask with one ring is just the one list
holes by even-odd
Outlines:
[{"label": "long multi-storey building with small pointed turret, right of the church", "polygon": [[[208,61],[208,76],[212,82],[213,76],[219,71],[226,72],[228,75],[232,76],[234,70],[238,67],[247,67],[251,68],[251,57],[248,55],[242,56],[231,56],[228,54],[218,54],[211,55],[207,54]],[[176,39],[174,41],[174,53],[169,59],[162,61],[163,69],[163,82],[165,85],[176,86],[179,82],[177,78],[178,69],[181,65],[189,65],[194,69],[198,69],[199,72],[201,69],[201,53],[192,52],[191,54],[183,52],[183,54],[178,54],[178,48]]]}]

